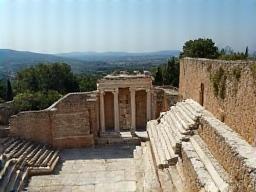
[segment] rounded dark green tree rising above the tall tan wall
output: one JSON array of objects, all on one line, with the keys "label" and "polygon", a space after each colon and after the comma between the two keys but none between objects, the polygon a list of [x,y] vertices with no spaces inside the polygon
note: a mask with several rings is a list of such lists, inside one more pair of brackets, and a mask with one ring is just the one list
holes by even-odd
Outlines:
[{"label": "rounded dark green tree rising above the tall tan wall", "polygon": [[212,39],[199,38],[189,40],[183,46],[180,57],[210,58],[215,59],[219,56],[218,47]]}]

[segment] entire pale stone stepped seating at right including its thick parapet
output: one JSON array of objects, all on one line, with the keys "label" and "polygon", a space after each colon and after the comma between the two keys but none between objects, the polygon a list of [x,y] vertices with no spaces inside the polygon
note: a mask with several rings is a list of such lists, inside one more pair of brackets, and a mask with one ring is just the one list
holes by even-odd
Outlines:
[{"label": "entire pale stone stepped seating at right including its thick parapet", "polygon": [[[214,129],[219,129],[219,135]],[[178,102],[159,119],[148,122],[147,132],[163,191],[256,191],[256,153],[253,156],[253,153],[249,155],[242,151],[253,148],[193,100]],[[232,141],[226,138],[228,135]],[[219,143],[219,148],[226,160],[214,148],[217,145],[214,142],[220,140],[222,146]],[[240,175],[244,176],[238,179],[237,170],[243,171]],[[245,179],[249,186],[245,186]]]}]

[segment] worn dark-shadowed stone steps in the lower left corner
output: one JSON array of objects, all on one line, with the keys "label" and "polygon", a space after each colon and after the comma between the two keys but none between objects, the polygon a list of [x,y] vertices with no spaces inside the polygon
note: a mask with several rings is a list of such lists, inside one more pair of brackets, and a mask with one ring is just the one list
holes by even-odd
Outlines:
[{"label": "worn dark-shadowed stone steps in the lower left corner", "polygon": [[13,137],[0,144],[0,192],[21,191],[29,176],[50,174],[59,160],[59,152],[43,144]]}]

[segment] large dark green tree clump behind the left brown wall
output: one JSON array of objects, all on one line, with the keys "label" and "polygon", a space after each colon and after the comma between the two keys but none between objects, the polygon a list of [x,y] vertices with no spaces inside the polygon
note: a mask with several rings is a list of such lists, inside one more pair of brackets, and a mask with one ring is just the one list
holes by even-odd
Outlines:
[{"label": "large dark green tree clump behind the left brown wall", "polygon": [[71,67],[65,63],[39,64],[17,73],[16,89],[24,91],[55,90],[61,94],[79,91],[79,84]]}]

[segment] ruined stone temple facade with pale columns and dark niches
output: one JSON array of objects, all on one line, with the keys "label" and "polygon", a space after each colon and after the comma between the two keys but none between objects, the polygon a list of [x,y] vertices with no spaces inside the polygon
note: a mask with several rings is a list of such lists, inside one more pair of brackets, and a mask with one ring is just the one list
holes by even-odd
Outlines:
[{"label": "ruined stone temple facade with pale columns and dark niches", "polygon": [[149,75],[108,75],[99,80],[101,132],[135,132],[155,116]]}]

